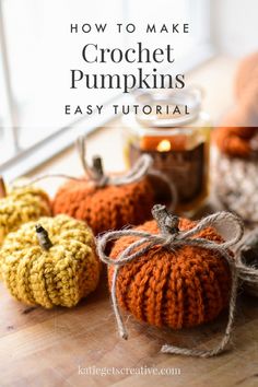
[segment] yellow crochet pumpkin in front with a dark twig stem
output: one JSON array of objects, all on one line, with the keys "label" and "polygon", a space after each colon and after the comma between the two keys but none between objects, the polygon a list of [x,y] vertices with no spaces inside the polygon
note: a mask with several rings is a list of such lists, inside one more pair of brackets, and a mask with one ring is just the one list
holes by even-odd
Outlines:
[{"label": "yellow crochet pumpkin in front with a dark twig stem", "polygon": [[58,215],[10,233],[1,248],[0,269],[16,300],[46,308],[71,307],[95,290],[101,263],[85,223]]}]

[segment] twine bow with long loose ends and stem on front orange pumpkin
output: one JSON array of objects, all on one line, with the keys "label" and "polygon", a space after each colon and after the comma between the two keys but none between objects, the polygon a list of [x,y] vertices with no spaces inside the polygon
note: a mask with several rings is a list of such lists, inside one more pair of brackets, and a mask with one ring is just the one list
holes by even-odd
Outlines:
[{"label": "twine bow with long loose ends and stem on front orange pumpkin", "polygon": [[[234,322],[238,275],[237,275],[237,269],[236,269],[234,258],[228,254],[227,249],[241,241],[244,234],[243,222],[239,218],[237,218],[236,215],[230,212],[218,212],[215,214],[202,219],[194,228],[189,231],[179,231],[178,228],[179,219],[168,213],[165,206],[161,206],[161,204],[154,206],[152,209],[152,214],[157,222],[160,234],[150,234],[148,232],[141,232],[136,230],[122,230],[122,231],[108,232],[103,236],[101,236],[97,241],[97,251],[101,260],[107,263],[108,266],[114,267],[110,292],[112,292],[113,308],[114,308],[119,335],[121,338],[128,339],[128,332],[126,330],[121,317],[121,312],[118,306],[117,294],[116,294],[116,283],[117,283],[117,278],[120,268],[122,268],[129,262],[137,260],[139,257],[150,251],[156,245],[160,245],[162,248],[166,248],[173,253],[175,253],[176,248],[186,245],[202,247],[202,248],[207,248],[220,253],[220,255],[227,261],[231,270],[232,289],[231,289],[231,297],[230,297],[228,322],[226,326],[225,333],[223,336],[223,339],[219,343],[219,345],[211,350],[191,350],[191,349],[177,348],[174,345],[166,344],[162,347],[162,352],[184,354],[188,356],[200,356],[200,357],[210,357],[216,355],[223,352],[225,347],[227,345],[232,332],[233,322]],[[215,242],[206,238],[194,237],[200,231],[204,230],[208,226],[215,226],[221,224],[223,224],[224,226],[226,222],[228,222],[230,226],[233,227],[233,230],[235,231],[234,236],[226,242],[218,244]],[[128,246],[116,259],[112,259],[108,256],[106,256],[105,248],[107,243],[120,238],[122,236],[136,236],[140,239],[138,239],[137,242]]]}]

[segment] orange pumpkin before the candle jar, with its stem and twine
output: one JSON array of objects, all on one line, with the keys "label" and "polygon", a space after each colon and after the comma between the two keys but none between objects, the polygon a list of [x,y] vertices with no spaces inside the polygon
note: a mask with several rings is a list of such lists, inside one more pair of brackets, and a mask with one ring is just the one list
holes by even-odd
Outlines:
[{"label": "orange pumpkin before the candle jar, with its stem and twine", "polygon": [[137,225],[149,219],[156,199],[154,185],[159,184],[156,179],[162,180],[155,176],[153,185],[148,176],[151,157],[142,156],[126,175],[107,176],[99,157],[93,160],[93,166],[86,164],[85,142],[83,138],[79,140],[85,176],[60,187],[52,201],[54,213],[66,213],[85,221],[95,235],[128,224]]}]

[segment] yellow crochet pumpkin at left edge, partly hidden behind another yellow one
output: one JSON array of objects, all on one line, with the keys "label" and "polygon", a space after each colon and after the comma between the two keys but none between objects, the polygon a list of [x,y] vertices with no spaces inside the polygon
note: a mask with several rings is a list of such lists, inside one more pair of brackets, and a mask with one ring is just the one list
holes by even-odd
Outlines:
[{"label": "yellow crochet pumpkin at left edge, partly hidden behind another yellow one", "polygon": [[14,188],[0,199],[0,244],[21,224],[50,215],[50,212],[49,198],[44,190],[33,186]]}]

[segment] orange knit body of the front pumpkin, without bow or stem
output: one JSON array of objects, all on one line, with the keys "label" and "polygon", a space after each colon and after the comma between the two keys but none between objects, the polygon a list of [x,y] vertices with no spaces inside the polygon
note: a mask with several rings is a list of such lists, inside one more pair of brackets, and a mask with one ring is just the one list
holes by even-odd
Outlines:
[{"label": "orange knit body of the front pumpkin, without bow or stem", "polygon": [[[180,220],[179,228],[189,230],[194,225],[194,222]],[[136,230],[159,232],[155,221]],[[222,242],[211,227],[197,236]],[[133,236],[118,239],[112,258],[116,259],[134,241]],[[109,268],[109,285],[113,271]],[[213,320],[228,305],[230,289],[230,269],[218,253],[192,246],[172,253],[156,246],[120,268],[116,294],[119,305],[137,319],[180,329]]]}]

